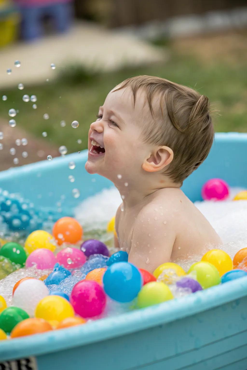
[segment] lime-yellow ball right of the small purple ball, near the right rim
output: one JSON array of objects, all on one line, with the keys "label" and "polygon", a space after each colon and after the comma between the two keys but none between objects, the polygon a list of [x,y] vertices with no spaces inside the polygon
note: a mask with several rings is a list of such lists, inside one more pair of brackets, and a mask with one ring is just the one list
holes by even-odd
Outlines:
[{"label": "lime-yellow ball right of the small purple ball, near the right rim", "polygon": [[196,262],[190,266],[188,274],[191,274],[203,289],[220,284],[220,273],[210,262]]}]

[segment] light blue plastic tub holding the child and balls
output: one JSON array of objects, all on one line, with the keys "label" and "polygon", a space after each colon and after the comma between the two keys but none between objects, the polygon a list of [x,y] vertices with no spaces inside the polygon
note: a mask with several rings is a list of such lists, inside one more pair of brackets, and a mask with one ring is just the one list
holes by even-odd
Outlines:
[{"label": "light blue plastic tub holding the child and balls", "polygon": [[[0,187],[18,189],[36,206],[51,208],[65,194],[71,214],[83,198],[112,185],[86,173],[86,158],[85,151],[10,169],[0,174]],[[67,181],[72,160],[73,184]],[[247,134],[217,134],[210,155],[183,190],[191,200],[200,200],[201,186],[212,177],[247,187],[246,169]],[[75,184],[78,199],[71,195]],[[1,363],[0,368],[246,370],[247,278],[83,326],[0,343],[0,362],[23,358]]]}]

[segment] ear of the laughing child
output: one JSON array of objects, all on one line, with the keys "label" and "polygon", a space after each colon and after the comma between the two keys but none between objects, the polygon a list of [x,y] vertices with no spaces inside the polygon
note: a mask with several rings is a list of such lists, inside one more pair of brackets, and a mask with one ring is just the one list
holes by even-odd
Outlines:
[{"label": "ear of the laughing child", "polygon": [[169,147],[158,147],[144,160],[142,168],[147,172],[158,172],[173,160],[173,150]]}]

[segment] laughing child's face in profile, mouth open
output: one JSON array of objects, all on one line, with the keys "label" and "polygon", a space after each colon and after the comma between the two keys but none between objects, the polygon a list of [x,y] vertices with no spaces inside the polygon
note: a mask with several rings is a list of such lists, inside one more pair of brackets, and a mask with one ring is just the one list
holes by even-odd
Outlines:
[{"label": "laughing child's face in profile, mouth open", "polygon": [[129,88],[110,91],[107,95],[99,109],[100,117],[89,129],[89,155],[85,167],[90,174],[100,174],[114,183],[120,182],[117,175],[121,175],[123,184],[140,174],[149,150],[149,146],[140,139],[141,122],[149,119],[151,113],[140,90],[134,109],[133,105],[133,94]]}]

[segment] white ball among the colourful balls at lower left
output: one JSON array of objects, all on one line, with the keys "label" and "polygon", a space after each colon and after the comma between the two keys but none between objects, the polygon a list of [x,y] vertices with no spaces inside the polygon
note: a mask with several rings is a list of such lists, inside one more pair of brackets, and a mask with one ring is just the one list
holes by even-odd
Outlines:
[{"label": "white ball among the colourful balls at lower left", "polygon": [[43,281],[24,280],[14,292],[12,305],[22,308],[30,317],[33,317],[37,304],[46,296],[49,296],[49,290]]}]

